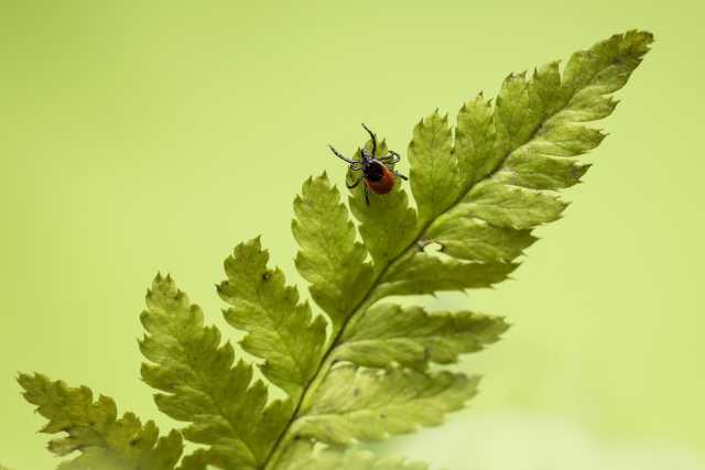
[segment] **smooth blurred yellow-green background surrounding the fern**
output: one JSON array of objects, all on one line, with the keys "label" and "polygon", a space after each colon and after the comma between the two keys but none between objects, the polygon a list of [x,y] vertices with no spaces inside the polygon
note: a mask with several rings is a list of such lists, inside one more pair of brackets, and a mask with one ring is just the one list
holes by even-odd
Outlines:
[{"label": "smooth blurred yellow-green background surrounding the fern", "polygon": [[[14,382],[42,371],[161,418],[138,314],[171,272],[221,325],[221,260],[259,233],[290,278],[291,201],[365,121],[413,124],[608,35],[657,44],[516,281],[435,305],[508,316],[460,367],[471,409],[395,451],[452,470],[696,469],[705,455],[702,59],[695,1],[0,0],[0,461],[57,460]],[[402,164],[402,170],[405,165]],[[585,467],[582,467],[585,466]]]}]

